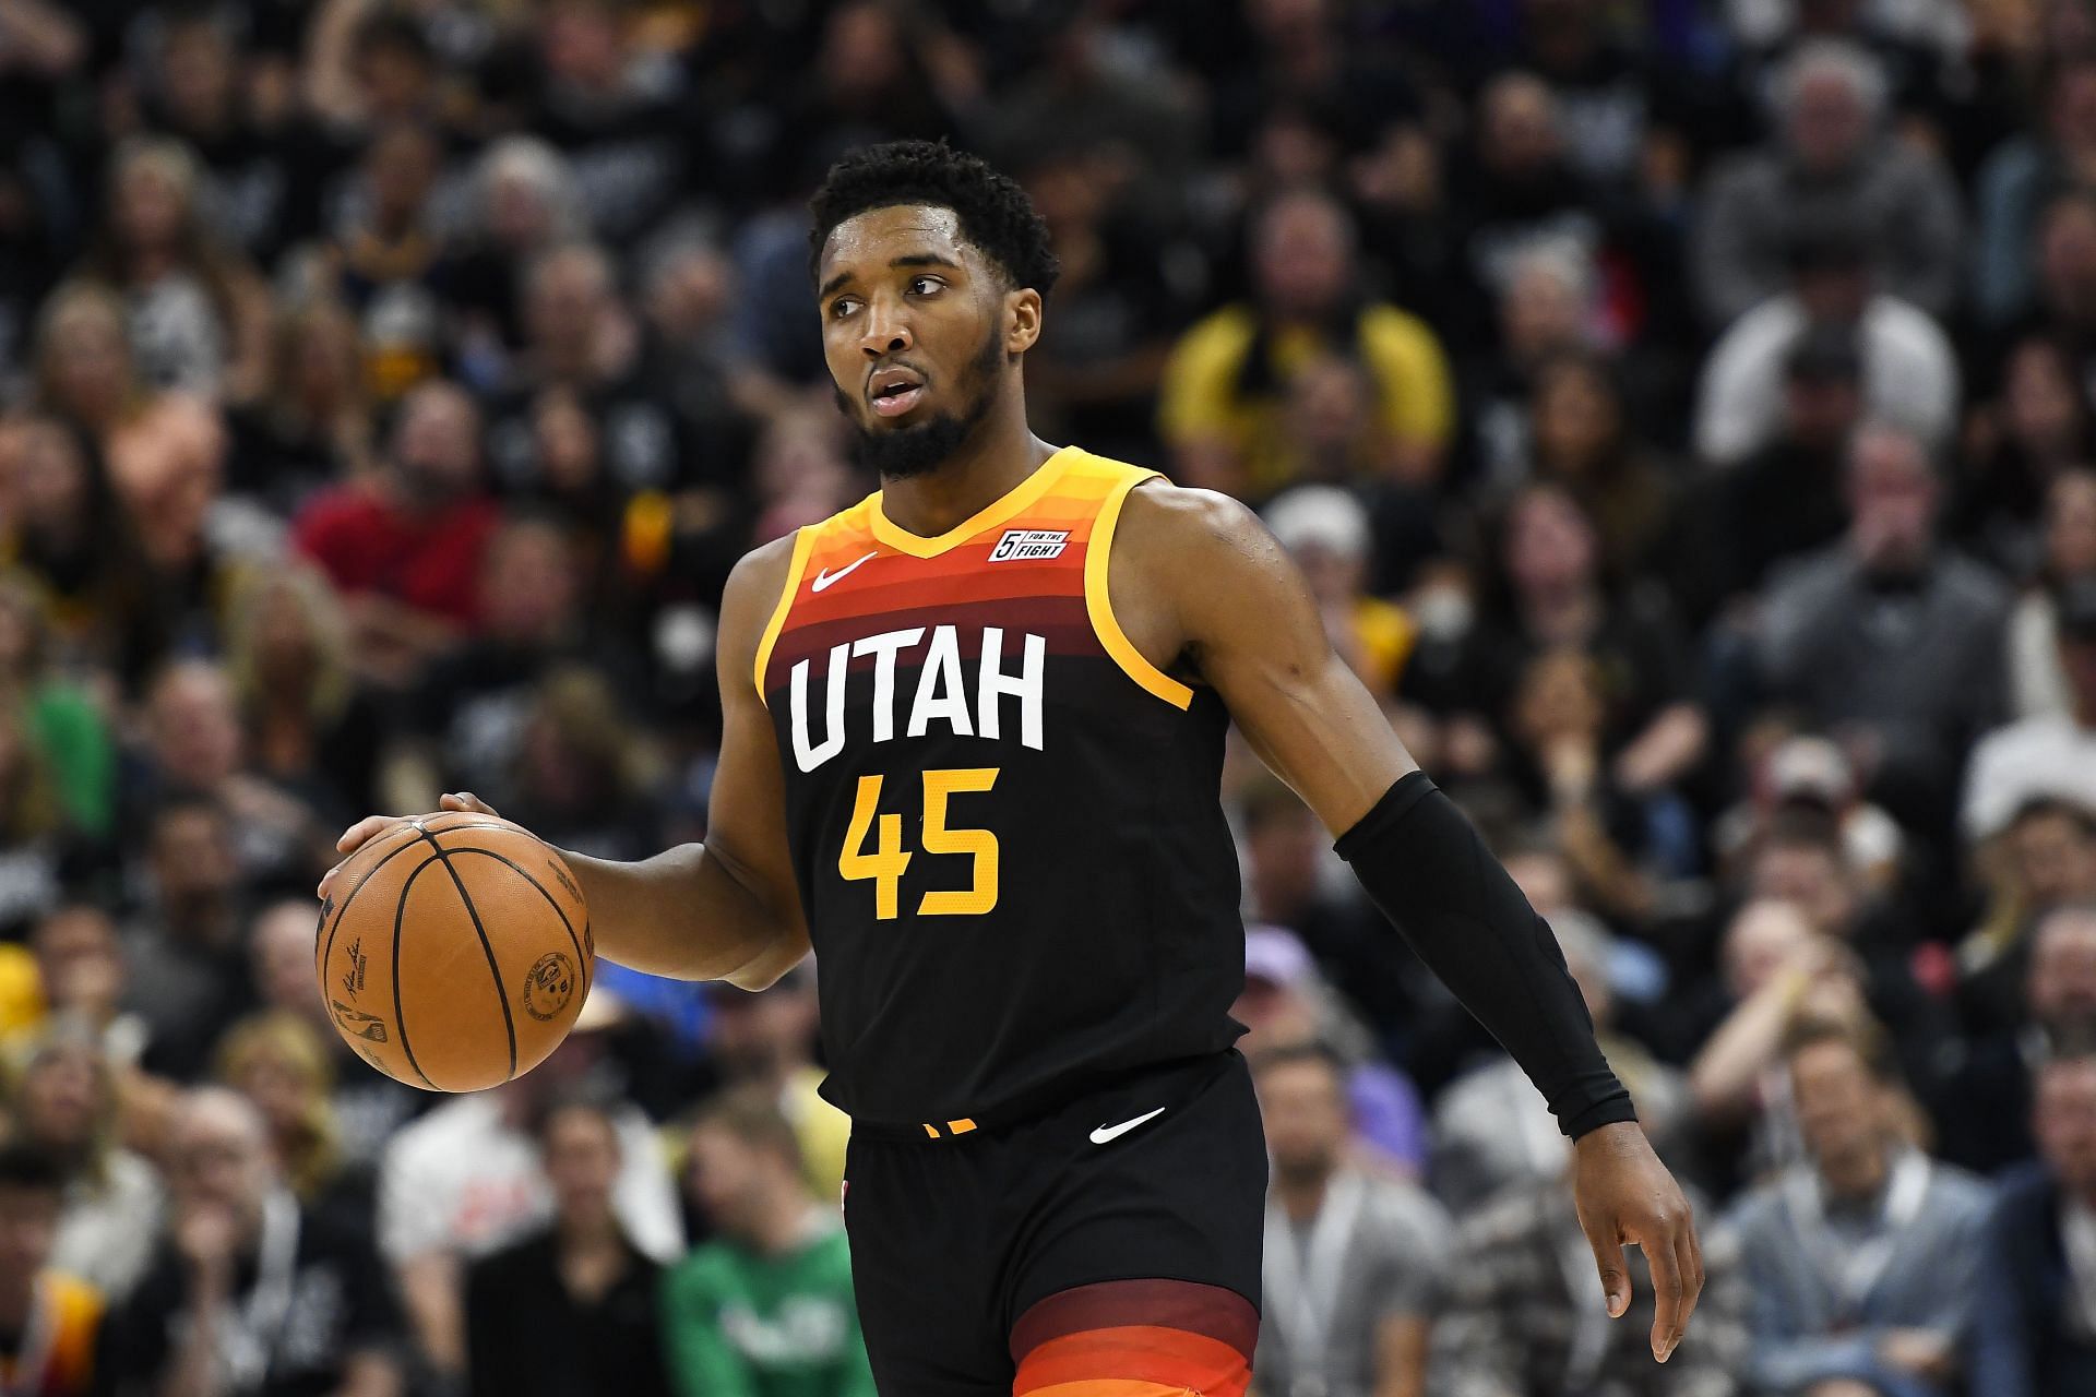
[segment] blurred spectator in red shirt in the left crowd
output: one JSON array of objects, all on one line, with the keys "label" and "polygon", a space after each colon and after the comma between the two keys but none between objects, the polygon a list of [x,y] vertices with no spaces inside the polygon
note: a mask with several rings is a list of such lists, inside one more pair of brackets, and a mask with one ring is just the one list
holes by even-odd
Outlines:
[{"label": "blurred spectator in red shirt in the left crowd", "polygon": [[497,524],[474,400],[425,383],[402,400],[379,471],[314,498],[296,540],[348,601],[358,668],[400,687],[478,622],[480,555]]}]

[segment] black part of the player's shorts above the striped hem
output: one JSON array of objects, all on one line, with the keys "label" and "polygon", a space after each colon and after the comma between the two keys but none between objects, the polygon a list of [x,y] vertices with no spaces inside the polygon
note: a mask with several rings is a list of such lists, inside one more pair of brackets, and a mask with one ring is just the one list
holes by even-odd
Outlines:
[{"label": "black part of the player's shorts above the striped hem", "polygon": [[853,1288],[885,1397],[1008,1395],[1019,1320],[1100,1282],[1216,1288],[1228,1320],[1209,1332],[1230,1330],[1249,1359],[1264,1219],[1266,1137],[1235,1049],[1006,1127],[855,1131],[845,1169]]}]

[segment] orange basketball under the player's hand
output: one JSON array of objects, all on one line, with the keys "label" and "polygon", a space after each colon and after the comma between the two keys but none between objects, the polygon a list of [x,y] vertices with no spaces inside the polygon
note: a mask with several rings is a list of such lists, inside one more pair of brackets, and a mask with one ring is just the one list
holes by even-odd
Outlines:
[{"label": "orange basketball under the player's hand", "polygon": [[428,815],[358,848],[321,905],[314,947],[335,1030],[425,1091],[499,1087],[545,1062],[593,961],[568,863],[478,813]]}]

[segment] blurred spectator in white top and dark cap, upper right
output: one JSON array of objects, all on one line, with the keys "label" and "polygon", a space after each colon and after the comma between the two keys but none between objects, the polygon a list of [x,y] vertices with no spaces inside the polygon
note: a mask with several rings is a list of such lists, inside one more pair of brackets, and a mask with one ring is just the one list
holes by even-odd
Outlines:
[{"label": "blurred spectator in white top and dark cap, upper right", "polygon": [[1704,362],[1696,404],[1696,454],[1738,465],[1765,446],[1784,419],[1784,364],[1813,327],[1855,335],[1863,408],[1914,431],[1933,452],[1958,425],[1958,356],[1949,335],[1914,304],[1874,289],[1870,247],[1853,228],[1800,228],[1790,245],[1790,285],[1719,337]]}]

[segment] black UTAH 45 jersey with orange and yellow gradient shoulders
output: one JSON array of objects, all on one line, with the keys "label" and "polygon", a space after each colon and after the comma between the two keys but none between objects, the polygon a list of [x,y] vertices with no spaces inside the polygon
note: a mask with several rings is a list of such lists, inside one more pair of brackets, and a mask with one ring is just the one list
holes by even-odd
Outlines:
[{"label": "black UTAH 45 jersey with orange and yellow gradient shoulders", "polygon": [[1151,475],[1071,446],[937,538],[878,494],[794,538],[757,689],[857,1121],[964,1133],[1239,1033],[1228,718],[1107,599]]}]

